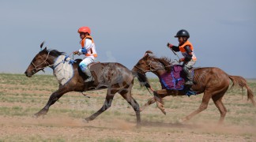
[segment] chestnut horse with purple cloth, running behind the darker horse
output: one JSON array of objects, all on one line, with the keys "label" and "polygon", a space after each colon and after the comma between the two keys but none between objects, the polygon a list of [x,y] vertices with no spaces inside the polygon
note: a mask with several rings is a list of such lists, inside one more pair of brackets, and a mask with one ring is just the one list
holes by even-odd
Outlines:
[{"label": "chestnut horse with purple cloth, running behind the darker horse", "polygon": [[[146,51],[145,56],[137,62],[134,66],[133,71],[137,73],[146,73],[152,72],[156,74],[157,77],[160,78],[160,75],[166,72],[170,72],[170,66],[172,62],[168,58],[156,58],[152,55],[152,51]],[[251,100],[251,102],[255,106],[254,95],[251,92],[250,88],[247,85],[247,80],[243,77],[238,76],[229,76],[223,70],[215,67],[207,67],[207,68],[198,68],[194,69],[194,84],[192,89],[197,92],[197,94],[204,93],[201,101],[201,105],[198,110],[195,110],[191,114],[187,115],[185,118],[181,119],[180,122],[188,121],[192,118],[195,114],[200,113],[202,110],[205,110],[208,106],[209,100],[213,99],[214,104],[220,110],[220,120],[219,123],[224,121],[224,117],[227,113],[226,107],[222,103],[221,99],[223,98],[225,92],[227,92],[229,87],[229,80],[232,80],[234,85],[239,85],[241,88],[247,88],[247,99]],[[160,101],[162,98],[168,95],[185,95],[183,91],[176,91],[176,90],[168,90],[168,89],[161,89],[157,90],[156,94],[160,97]],[[155,96],[155,98],[149,99],[148,103],[145,103],[141,110],[145,107],[149,106],[152,103],[155,103],[159,98]],[[158,101],[157,101],[158,102]],[[156,102],[156,103],[157,103]],[[163,105],[163,104],[161,104]],[[157,105],[158,106],[158,105]],[[164,106],[158,106],[160,110],[164,111]]]}]

